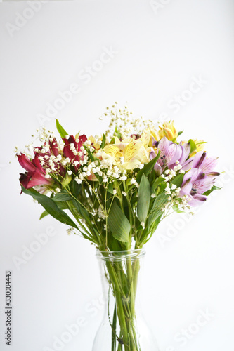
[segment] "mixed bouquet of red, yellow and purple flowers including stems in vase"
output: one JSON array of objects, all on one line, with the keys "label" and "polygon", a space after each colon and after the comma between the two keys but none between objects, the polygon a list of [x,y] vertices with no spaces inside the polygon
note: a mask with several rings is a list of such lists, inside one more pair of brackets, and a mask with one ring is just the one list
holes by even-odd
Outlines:
[{"label": "mixed bouquet of red, yellow and purple flowers including stems in vase", "polygon": [[[70,135],[56,121],[60,140],[43,127],[39,146],[16,153],[26,170],[22,192],[44,207],[41,218],[53,216],[69,226],[68,234],[81,235],[108,256],[141,250],[171,211],[191,211],[206,201],[218,189],[219,173],[216,158],[202,150],[204,141],[178,141],[182,132],[173,122],[156,128],[117,105],[103,117],[110,117],[103,135]],[[134,328],[139,265],[109,262],[106,270],[115,296],[112,350],[140,350]]]}]

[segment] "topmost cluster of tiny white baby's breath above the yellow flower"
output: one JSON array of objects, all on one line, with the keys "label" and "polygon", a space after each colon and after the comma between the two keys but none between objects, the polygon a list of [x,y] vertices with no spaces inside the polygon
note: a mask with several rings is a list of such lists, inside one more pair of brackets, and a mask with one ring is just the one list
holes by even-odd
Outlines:
[{"label": "topmost cluster of tiny white baby's breath above the yellow flower", "polygon": [[110,124],[108,130],[105,132],[107,140],[118,136],[115,133],[116,128],[122,139],[129,138],[133,134],[141,134],[144,129],[155,128],[151,120],[145,120],[142,116],[134,117],[133,113],[129,112],[127,106],[121,109],[117,106],[117,102],[111,108],[106,108],[106,112],[100,117],[100,120],[103,120],[105,117],[110,117]]}]

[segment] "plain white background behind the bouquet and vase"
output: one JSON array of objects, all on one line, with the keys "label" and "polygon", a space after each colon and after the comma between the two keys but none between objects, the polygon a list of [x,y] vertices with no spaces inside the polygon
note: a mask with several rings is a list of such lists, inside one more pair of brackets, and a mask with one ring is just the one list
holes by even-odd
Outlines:
[{"label": "plain white background behind the bouquet and vase", "polygon": [[[22,168],[13,157],[13,147],[24,147],[40,126],[38,116],[46,115],[46,104],[53,105],[58,91],[74,83],[79,93],[56,114],[70,133],[101,133],[107,121],[98,117],[105,107],[127,101],[145,118],[168,114],[184,130],[183,138],[207,140],[209,155],[219,157],[217,168],[226,171],[220,180],[223,190],[192,219],[177,214],[164,220],[146,246],[144,311],[162,351],[234,350],[233,1],[157,4],[159,8],[148,0],[49,1],[33,13],[25,10],[30,7],[25,1],[0,4],[3,351],[56,350],[54,338],[78,317],[86,319],[86,326],[61,350],[90,351],[102,318],[102,305],[94,306],[101,296],[94,246],[68,237],[53,218],[39,221],[40,206],[20,196]],[[19,22],[19,14],[31,18]],[[15,23],[21,27],[15,29]],[[86,66],[100,67],[96,60],[110,47],[115,55],[93,71],[89,82],[78,77]],[[205,83],[196,93],[185,93],[194,77]],[[187,101],[177,112],[168,104],[181,94]],[[54,129],[54,119],[48,118],[45,126]],[[35,234],[51,226],[55,235],[23,260],[25,246],[30,249]],[[15,258],[22,261],[16,265]],[[12,270],[11,347],[4,344],[6,270]],[[196,323],[200,310],[209,310],[212,317],[182,346],[176,333]]]}]

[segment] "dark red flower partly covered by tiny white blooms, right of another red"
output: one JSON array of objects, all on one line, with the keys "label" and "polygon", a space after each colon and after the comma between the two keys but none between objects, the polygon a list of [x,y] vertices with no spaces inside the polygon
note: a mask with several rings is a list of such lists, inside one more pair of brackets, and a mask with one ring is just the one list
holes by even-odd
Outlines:
[{"label": "dark red flower partly covered by tiny white blooms, right of another red", "polygon": [[[79,135],[79,142],[77,143],[73,135],[69,138],[63,138],[65,146],[63,147],[63,154],[68,157],[72,162],[75,170],[77,171],[80,167],[79,161],[84,159],[84,154],[81,150],[83,143],[87,140],[86,135]],[[82,154],[78,154],[82,152]]]}]

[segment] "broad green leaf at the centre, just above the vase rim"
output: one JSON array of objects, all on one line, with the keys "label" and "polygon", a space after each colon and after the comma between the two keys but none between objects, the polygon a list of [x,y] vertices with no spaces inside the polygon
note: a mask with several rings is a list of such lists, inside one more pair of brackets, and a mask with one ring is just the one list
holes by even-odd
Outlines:
[{"label": "broad green leaf at the centre, just above the vase rim", "polygon": [[113,202],[110,208],[108,225],[115,239],[122,242],[130,242],[129,232],[131,225],[116,201]]}]

